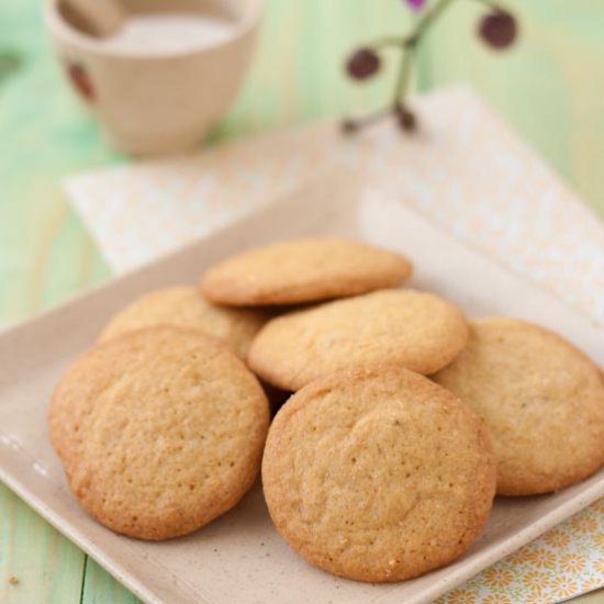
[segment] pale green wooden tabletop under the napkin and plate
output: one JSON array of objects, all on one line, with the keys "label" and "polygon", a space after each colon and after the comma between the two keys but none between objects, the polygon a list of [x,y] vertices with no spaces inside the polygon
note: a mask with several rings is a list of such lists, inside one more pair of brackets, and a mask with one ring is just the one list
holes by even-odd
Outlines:
[{"label": "pale green wooden tabletop under the napkin and plate", "polygon": [[[513,51],[471,35],[478,7],[458,0],[422,49],[420,89],[469,81],[596,211],[604,214],[602,0],[511,1]],[[529,5],[527,5],[529,4]],[[64,86],[38,0],[0,1],[0,325],[110,277],[60,189],[64,176],[124,161]],[[400,0],[267,0],[254,68],[210,142],[378,107],[393,67],[356,86],[340,63],[355,44],[410,22]],[[18,65],[16,65],[18,64]],[[19,579],[16,585],[9,578]],[[602,593],[581,599],[602,602]],[[125,603],[136,599],[0,485],[0,602]]]}]

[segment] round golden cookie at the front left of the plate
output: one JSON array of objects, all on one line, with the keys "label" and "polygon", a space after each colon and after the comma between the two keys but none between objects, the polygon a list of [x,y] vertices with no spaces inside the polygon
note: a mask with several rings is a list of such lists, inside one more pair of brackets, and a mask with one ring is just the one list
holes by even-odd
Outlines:
[{"label": "round golden cookie at the front left of the plate", "polygon": [[259,471],[269,409],[256,378],[198,331],[101,344],[64,374],[51,441],[80,504],[139,539],[184,535],[232,508]]}]

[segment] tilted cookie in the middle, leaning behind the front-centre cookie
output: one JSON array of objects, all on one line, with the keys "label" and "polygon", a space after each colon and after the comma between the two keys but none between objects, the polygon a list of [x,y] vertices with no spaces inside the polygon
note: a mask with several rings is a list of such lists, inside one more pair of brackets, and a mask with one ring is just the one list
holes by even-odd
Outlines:
[{"label": "tilted cookie in the middle, leaning behind the front-centre cookie", "polygon": [[463,313],[432,293],[384,290],[269,321],[248,355],[253,371],[283,390],[343,369],[398,365],[433,373],[468,339]]}]

